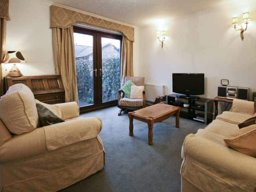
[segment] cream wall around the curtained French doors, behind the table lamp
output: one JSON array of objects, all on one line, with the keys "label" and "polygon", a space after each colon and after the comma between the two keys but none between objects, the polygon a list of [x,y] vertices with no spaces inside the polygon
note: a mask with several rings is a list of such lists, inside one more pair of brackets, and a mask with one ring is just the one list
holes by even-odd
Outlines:
[{"label": "cream wall around the curtained French doors, behind the table lamp", "polygon": [[[6,50],[22,52],[27,64],[18,64],[24,76],[54,74],[50,2],[10,0]],[[138,74],[138,28],[135,27],[134,73]],[[12,65],[5,64],[9,70]]]}]

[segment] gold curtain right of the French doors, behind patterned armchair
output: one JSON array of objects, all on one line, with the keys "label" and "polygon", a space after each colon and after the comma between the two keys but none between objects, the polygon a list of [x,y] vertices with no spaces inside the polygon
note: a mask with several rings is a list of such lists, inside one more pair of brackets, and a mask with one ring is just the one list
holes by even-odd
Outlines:
[{"label": "gold curtain right of the French doors, behind patterned armchair", "polygon": [[121,83],[126,76],[133,76],[133,42],[125,36],[122,39]]}]

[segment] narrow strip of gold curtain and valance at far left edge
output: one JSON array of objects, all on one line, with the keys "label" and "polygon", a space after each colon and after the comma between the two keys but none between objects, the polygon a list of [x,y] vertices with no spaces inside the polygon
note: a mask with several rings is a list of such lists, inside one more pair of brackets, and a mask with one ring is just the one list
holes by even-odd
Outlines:
[{"label": "narrow strip of gold curtain and valance at far left edge", "polygon": [[0,0],[0,96],[4,94],[4,70],[2,69],[2,61],[5,56],[6,42],[6,20],[9,18],[9,0]]}]

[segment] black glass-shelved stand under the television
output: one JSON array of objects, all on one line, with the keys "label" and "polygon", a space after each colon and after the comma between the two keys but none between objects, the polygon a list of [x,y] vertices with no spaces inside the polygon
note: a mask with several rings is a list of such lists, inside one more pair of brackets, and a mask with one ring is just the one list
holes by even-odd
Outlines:
[{"label": "black glass-shelved stand under the television", "polygon": [[179,106],[181,108],[180,117],[202,122],[204,124],[212,122],[212,99],[170,94],[166,96],[166,103],[173,106]]}]

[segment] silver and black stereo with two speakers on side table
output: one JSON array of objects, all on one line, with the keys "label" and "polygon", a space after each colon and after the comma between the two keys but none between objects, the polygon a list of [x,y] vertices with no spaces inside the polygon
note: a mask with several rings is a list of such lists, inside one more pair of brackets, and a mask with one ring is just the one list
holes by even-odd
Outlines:
[{"label": "silver and black stereo with two speakers on side table", "polygon": [[218,97],[248,100],[249,88],[218,86]]}]

